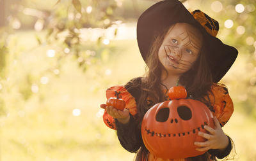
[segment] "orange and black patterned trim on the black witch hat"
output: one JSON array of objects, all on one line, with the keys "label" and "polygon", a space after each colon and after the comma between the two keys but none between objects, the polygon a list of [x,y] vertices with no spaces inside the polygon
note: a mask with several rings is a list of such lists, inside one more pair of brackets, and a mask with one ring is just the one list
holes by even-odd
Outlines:
[{"label": "orange and black patterned trim on the black witch hat", "polygon": [[216,37],[219,31],[219,23],[213,18],[206,15],[200,10],[195,10],[191,12],[191,15],[204,27],[204,29],[211,34],[211,36]]}]

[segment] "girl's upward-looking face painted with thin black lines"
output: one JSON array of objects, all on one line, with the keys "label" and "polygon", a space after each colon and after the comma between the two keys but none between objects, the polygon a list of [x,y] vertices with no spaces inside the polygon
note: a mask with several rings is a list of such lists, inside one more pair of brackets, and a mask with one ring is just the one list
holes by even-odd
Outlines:
[{"label": "girl's upward-looking face painted with thin black lines", "polygon": [[172,25],[159,48],[158,58],[169,74],[183,74],[197,59],[202,47],[202,34],[193,25]]}]

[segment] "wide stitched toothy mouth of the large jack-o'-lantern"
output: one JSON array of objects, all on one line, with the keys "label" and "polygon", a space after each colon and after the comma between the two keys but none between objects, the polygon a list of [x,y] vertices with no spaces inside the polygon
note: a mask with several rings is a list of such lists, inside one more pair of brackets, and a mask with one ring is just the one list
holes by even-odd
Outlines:
[{"label": "wide stitched toothy mouth of the large jack-o'-lantern", "polygon": [[201,125],[201,127],[197,127],[193,130],[190,130],[188,132],[180,132],[180,133],[175,133],[175,134],[172,134],[172,133],[169,133],[169,134],[162,134],[162,133],[157,133],[157,132],[154,132],[153,130],[150,131],[150,129],[147,129],[147,127],[145,127],[145,131],[147,131],[147,134],[150,135],[150,136],[158,136],[158,137],[175,137],[175,136],[186,136],[186,135],[189,135],[189,134],[195,134],[196,133],[196,130],[200,131],[200,129],[204,129],[204,125],[208,125],[207,122],[204,122],[204,124]]}]

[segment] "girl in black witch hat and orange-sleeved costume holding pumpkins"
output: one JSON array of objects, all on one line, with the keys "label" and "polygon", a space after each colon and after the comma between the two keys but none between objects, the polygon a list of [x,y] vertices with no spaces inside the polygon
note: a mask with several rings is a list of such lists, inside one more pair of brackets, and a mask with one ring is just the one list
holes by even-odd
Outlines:
[{"label": "girl in black witch hat and orange-sleeved costume holding pumpkins", "polygon": [[[154,4],[138,20],[137,40],[147,64],[144,77],[134,78],[124,86],[106,91],[107,98],[122,96],[124,111],[102,104],[104,122],[117,130],[125,150],[137,153],[138,161],[216,160],[232,149],[230,137],[221,127],[233,113],[232,100],[218,81],[237,57],[237,50],[216,38],[219,26],[200,10],[189,13],[180,1],[165,0]],[[207,139],[195,142],[196,150],[207,151],[192,158],[163,159],[150,153],[141,139],[141,121],[149,108],[166,101],[168,88],[184,86],[188,97],[204,102],[212,111],[215,128],[205,125]]]}]

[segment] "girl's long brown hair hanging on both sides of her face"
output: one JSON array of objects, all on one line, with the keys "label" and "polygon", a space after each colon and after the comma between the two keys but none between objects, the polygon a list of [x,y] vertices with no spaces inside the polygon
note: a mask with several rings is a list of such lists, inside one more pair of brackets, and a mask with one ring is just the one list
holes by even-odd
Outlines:
[{"label": "girl's long brown hair hanging on both sides of her face", "polygon": [[[165,94],[163,94],[163,91],[161,90],[161,85],[163,85],[161,83],[161,74],[162,72],[167,73],[167,71],[166,69],[164,69],[163,65],[158,59],[158,51],[163,43],[164,36],[169,31],[169,29],[170,27],[156,34],[155,40],[152,43],[152,47],[150,48],[150,52],[148,54],[149,56],[146,62],[147,67],[145,79],[141,81],[141,94],[140,99],[138,99],[137,102],[139,122],[142,122],[143,116],[145,115],[147,110],[152,107],[148,106],[148,102],[146,101],[148,97],[150,98],[150,101],[152,101],[152,105],[164,101]],[[213,82],[211,70],[209,69],[209,65],[204,54],[205,52],[207,52],[207,50],[205,49],[203,43],[198,58],[196,59],[191,69],[189,69],[189,71],[187,71],[186,73],[182,74],[182,76],[180,77],[180,83],[182,83],[182,85],[186,87],[188,94],[193,97],[193,99],[204,102],[211,109],[211,102],[208,92],[211,92],[211,85]],[[139,128],[140,126],[141,125],[139,125]],[[140,156],[138,158],[143,158],[142,156],[147,156],[147,153],[147,148],[145,148],[145,146],[142,146],[140,152],[138,153],[138,156]],[[204,155],[190,158],[190,160],[207,160],[208,157],[209,154],[205,153]]]}]

